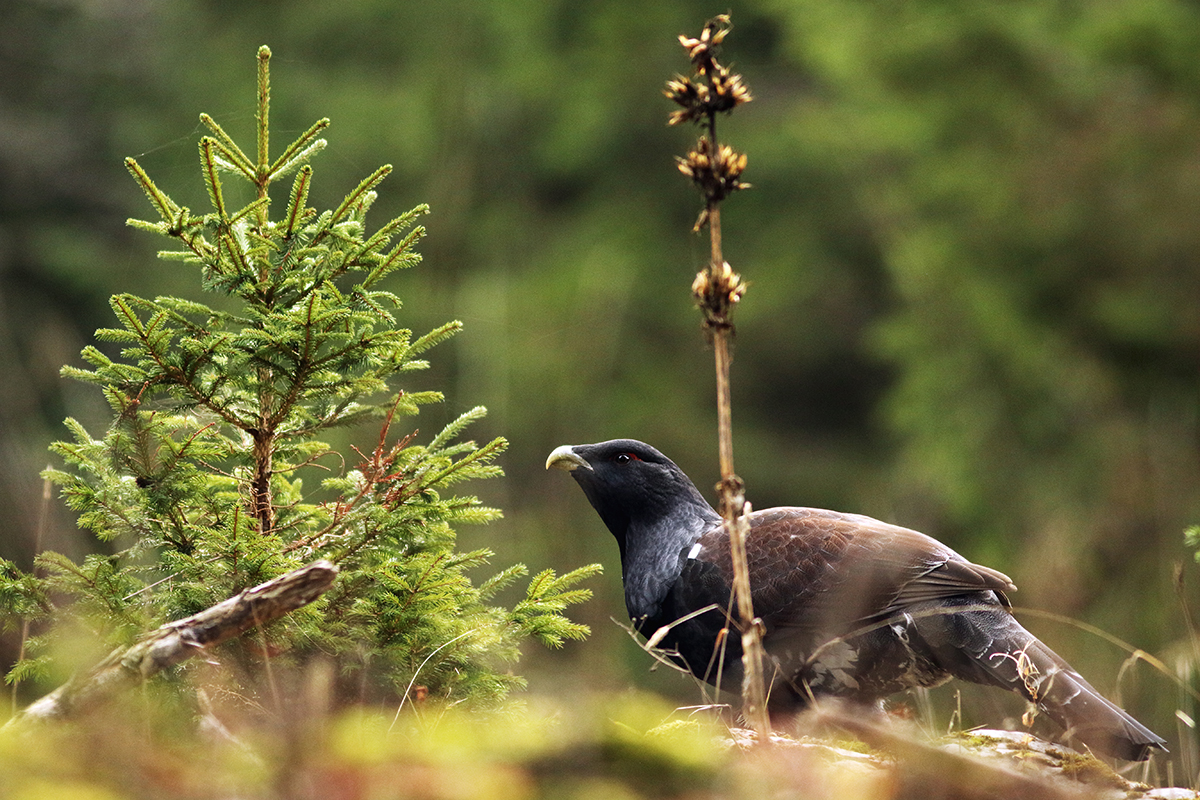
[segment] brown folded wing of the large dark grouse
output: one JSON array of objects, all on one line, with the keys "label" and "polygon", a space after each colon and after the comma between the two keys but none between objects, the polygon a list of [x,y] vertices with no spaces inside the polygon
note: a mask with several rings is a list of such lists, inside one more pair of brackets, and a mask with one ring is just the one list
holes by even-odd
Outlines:
[{"label": "brown folded wing of the large dark grouse", "polygon": [[[859,515],[779,507],[750,516],[755,614],[768,626],[847,630],[930,600],[1015,589],[924,534]],[[732,579],[730,545],[715,528],[695,558]]]}]

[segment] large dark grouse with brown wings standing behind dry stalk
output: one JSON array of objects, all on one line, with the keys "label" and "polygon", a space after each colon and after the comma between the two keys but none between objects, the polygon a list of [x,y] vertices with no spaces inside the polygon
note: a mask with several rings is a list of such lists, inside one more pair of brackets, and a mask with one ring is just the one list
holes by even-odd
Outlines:
[{"label": "large dark grouse with brown wings standing behind dry stalk", "polygon": [[[551,467],[571,473],[617,537],[637,628],[650,637],[671,626],[660,646],[678,663],[739,687],[739,637],[719,644],[734,627],[730,541],[691,480],[632,439],[558,447]],[[750,515],[746,551],[773,716],[810,697],[874,703],[961,678],[1016,692],[1099,752],[1142,760],[1165,750],[1021,627],[1007,576],[935,539],[859,515],[780,507]],[[715,608],[695,614],[706,607]]]}]

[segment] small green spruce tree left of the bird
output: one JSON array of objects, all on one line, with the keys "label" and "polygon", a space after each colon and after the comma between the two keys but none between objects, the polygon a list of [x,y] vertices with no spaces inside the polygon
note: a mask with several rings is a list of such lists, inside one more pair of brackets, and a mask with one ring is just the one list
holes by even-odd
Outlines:
[{"label": "small green spruce tree left of the bird", "polygon": [[[442,398],[397,379],[426,367],[425,353],[461,327],[415,336],[397,324],[400,299],[380,288],[420,260],[426,207],[368,231],[390,167],[336,209],[308,207],[310,162],[329,121],[269,157],[269,58],[260,48],[254,157],[200,116],[210,131],[199,143],[209,212],[180,206],[126,161],[158,215],[128,224],[168,239],[161,258],[194,269],[218,301],[115,295],[118,325],[97,338],[120,345],[119,355],[88,347],[89,368],[64,369],[100,386],[113,417],[100,437],[67,420],[71,439],[52,447],[66,469],[47,476],[107,552],[82,564],[42,553],[35,573],[0,564],[6,624],[32,624],[36,634],[7,680],[48,676],[50,645],[68,631],[119,646],[325,558],[341,573],[324,597],[227,646],[239,674],[257,674],[266,658],[323,656],[360,692],[496,703],[521,684],[506,664],[522,639],[557,646],[587,634],[563,612],[589,596],[576,584],[599,567],[545,571],[511,608],[493,597],[526,575],[523,565],[472,579],[492,553],[457,552],[455,525],[500,512],[454,492],[500,475],[504,439],[460,439],[482,408],[425,443],[415,432],[390,437],[398,419]],[[289,175],[290,190],[272,197]],[[250,185],[241,207],[222,185],[229,176]],[[382,422],[379,435],[356,455],[319,439],[368,420]],[[302,476],[318,468],[329,477],[314,494]]]}]

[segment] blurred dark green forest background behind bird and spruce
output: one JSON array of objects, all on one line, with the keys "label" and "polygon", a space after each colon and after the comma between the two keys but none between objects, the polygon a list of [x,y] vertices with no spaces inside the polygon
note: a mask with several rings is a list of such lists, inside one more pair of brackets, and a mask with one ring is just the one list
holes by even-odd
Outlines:
[{"label": "blurred dark green forest background behind bird and spruce", "polygon": [[[610,566],[577,614],[596,633],[530,654],[533,690],[649,680],[608,621],[624,618],[616,548],[542,463],[634,437],[715,482],[689,294],[708,249],[672,163],[690,133],[666,127],[660,89],[686,70],[676,36],[726,11],[726,61],[755,95],[722,122],[754,184],[724,213],[751,282],[733,372],[751,501],[922,529],[1012,575],[1019,606],[1186,658],[1172,567],[1194,599],[1200,6],[1184,0],[8,0],[0,555],[29,563],[62,417],[107,420],[58,371],[109,324],[108,296],[198,291],[125,228],[149,209],[121,160],[203,209],[198,114],[251,136],[265,43],[276,140],[334,122],[314,205],[390,162],[376,216],[432,206],[425,263],[389,288],[414,330],[467,327],[415,379],[448,396],[419,425],[482,403],[475,435],[512,443],[508,477],[473,488],[506,518],[466,546]],[[91,547],[56,500],[43,546]],[[1030,622],[1114,688],[1124,652]],[[1133,673],[1123,700],[1172,733],[1177,690]]]}]

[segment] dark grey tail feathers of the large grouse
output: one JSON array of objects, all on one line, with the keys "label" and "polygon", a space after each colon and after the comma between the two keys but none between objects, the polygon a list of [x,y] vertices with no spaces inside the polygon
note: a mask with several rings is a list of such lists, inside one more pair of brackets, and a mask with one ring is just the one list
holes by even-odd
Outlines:
[{"label": "dark grey tail feathers of the large grouse", "polygon": [[[977,615],[988,616],[972,619]],[[1151,750],[1166,750],[1153,730],[1104,698],[1061,656],[1006,612],[961,615],[974,628],[978,657],[953,666],[960,678],[1015,691],[1034,703],[1067,735],[1088,747],[1126,760],[1145,760]]]}]

